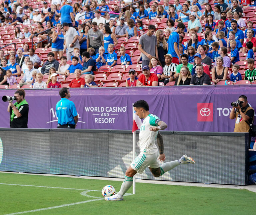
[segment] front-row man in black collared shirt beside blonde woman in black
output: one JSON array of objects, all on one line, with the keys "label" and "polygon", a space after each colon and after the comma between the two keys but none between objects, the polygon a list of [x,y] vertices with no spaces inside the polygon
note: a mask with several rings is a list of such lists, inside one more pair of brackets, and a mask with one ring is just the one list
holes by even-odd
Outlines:
[{"label": "front-row man in black collared shirt beside blonde woman in black", "polygon": [[189,85],[209,85],[211,84],[210,77],[203,72],[204,67],[202,64],[196,64],[196,74],[192,75]]}]

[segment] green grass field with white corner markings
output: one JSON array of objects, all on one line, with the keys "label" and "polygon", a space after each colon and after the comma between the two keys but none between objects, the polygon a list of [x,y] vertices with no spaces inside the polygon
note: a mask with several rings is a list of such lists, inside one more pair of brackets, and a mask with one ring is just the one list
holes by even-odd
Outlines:
[{"label": "green grass field with white corner markings", "polygon": [[239,189],[137,183],[124,201],[102,198],[102,187],[121,183],[0,173],[0,214],[255,214],[256,193]]}]

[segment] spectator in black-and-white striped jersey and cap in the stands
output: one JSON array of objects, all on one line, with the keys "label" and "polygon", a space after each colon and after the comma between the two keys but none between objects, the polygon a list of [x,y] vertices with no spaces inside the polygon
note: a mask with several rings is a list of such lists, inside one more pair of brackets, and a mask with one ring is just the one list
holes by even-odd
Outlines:
[{"label": "spectator in black-and-white striped jersey and cap in the stands", "polygon": [[172,55],[171,54],[166,54],[164,55],[164,61],[165,61],[165,66],[163,68],[163,74],[161,75],[161,82],[164,82],[166,85],[169,81],[174,81],[174,74],[176,72],[176,67],[178,64],[172,63]]}]

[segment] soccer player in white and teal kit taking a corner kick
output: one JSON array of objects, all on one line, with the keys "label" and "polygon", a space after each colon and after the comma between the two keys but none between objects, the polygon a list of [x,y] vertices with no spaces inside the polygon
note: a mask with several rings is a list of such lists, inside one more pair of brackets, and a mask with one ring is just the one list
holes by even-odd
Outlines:
[{"label": "soccer player in white and teal kit taking a corner kick", "polygon": [[[139,135],[140,154],[126,170],[120,191],[113,196],[105,197],[107,201],[123,200],[123,195],[132,186],[133,176],[136,173],[141,174],[147,167],[149,167],[154,177],[159,177],[180,164],[195,163],[192,158],[183,155],[179,160],[170,161],[160,166],[158,160],[165,161],[165,155],[163,138],[158,131],[167,128],[167,124],[157,116],[149,113],[149,106],[146,101],[139,100],[134,103],[133,107],[136,115],[140,119],[144,119]],[[156,138],[160,153],[159,157],[158,149],[155,145]]]}]

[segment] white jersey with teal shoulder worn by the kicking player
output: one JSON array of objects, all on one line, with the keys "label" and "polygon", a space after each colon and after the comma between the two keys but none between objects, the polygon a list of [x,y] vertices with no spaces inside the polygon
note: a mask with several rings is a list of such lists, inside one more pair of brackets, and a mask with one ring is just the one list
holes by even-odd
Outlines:
[{"label": "white jersey with teal shoulder worn by the kicking player", "polygon": [[149,114],[144,120],[140,128],[140,151],[143,154],[154,154],[158,151],[158,148],[155,144],[155,140],[158,134],[158,131],[150,131],[149,128],[152,126],[158,126],[157,123],[160,119],[153,115]]}]

